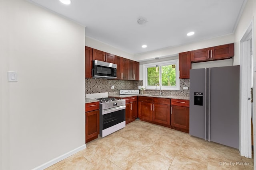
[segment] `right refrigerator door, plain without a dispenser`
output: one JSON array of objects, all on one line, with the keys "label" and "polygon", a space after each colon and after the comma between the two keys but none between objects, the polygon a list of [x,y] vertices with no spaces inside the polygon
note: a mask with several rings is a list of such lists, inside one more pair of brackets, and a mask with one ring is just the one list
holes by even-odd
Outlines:
[{"label": "right refrigerator door, plain without a dispenser", "polygon": [[208,140],[239,145],[239,66],[210,68]]}]

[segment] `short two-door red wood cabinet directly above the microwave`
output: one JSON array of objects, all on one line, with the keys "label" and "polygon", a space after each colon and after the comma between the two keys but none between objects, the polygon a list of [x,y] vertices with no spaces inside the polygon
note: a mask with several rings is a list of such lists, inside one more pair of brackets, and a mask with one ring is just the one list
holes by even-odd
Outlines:
[{"label": "short two-door red wood cabinet directly above the microwave", "polygon": [[115,55],[97,49],[92,50],[92,59],[116,64]]}]

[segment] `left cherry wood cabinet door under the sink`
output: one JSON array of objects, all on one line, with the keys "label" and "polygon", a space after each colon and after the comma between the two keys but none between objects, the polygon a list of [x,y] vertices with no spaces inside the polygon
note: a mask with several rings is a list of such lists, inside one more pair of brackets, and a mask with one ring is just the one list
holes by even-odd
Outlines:
[{"label": "left cherry wood cabinet door under the sink", "polygon": [[142,120],[152,121],[152,103],[148,102],[139,102],[139,117]]}]

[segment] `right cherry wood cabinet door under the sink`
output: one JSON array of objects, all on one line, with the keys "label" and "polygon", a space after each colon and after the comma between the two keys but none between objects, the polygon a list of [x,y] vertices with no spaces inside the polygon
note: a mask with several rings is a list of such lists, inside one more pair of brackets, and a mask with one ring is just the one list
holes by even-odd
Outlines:
[{"label": "right cherry wood cabinet door under the sink", "polygon": [[171,110],[170,105],[154,104],[153,105],[153,121],[170,125]]}]

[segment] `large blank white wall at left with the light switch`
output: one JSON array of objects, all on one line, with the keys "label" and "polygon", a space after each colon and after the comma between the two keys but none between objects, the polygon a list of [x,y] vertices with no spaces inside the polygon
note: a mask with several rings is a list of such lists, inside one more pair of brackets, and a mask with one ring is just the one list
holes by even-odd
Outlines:
[{"label": "large blank white wall at left with the light switch", "polygon": [[28,170],[84,148],[84,27],[1,0],[0,36],[0,169]]}]

